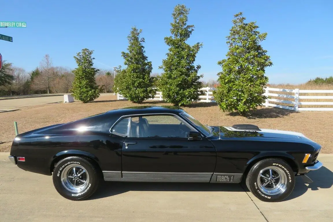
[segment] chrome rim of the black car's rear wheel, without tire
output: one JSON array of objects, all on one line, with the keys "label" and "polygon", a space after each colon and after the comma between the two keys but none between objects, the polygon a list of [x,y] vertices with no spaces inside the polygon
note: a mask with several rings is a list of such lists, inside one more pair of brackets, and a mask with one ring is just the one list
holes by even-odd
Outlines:
[{"label": "chrome rim of the black car's rear wheel, without tire", "polygon": [[83,166],[70,164],[61,173],[61,183],[68,191],[79,193],[87,188],[89,174]]}]

